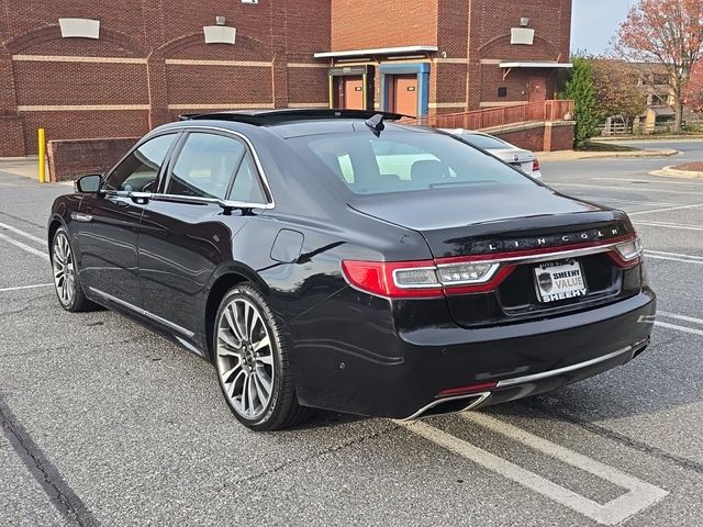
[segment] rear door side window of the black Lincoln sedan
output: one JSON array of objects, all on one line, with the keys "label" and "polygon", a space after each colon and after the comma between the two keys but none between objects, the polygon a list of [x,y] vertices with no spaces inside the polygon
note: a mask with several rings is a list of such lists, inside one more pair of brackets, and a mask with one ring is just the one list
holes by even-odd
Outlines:
[{"label": "rear door side window of the black Lincoln sedan", "polygon": [[245,155],[244,145],[233,137],[191,133],[174,164],[166,193],[226,199]]}]

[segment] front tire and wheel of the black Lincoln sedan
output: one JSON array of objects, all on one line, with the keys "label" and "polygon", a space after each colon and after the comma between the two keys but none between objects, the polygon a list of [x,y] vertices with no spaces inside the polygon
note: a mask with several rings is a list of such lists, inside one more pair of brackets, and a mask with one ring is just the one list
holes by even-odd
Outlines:
[{"label": "front tire and wheel of the black Lincoln sedan", "polygon": [[54,233],[51,249],[54,290],[62,307],[72,313],[93,310],[96,304],[90,302],[83,293],[74,248],[70,245],[68,232],[64,227],[59,227]]}]

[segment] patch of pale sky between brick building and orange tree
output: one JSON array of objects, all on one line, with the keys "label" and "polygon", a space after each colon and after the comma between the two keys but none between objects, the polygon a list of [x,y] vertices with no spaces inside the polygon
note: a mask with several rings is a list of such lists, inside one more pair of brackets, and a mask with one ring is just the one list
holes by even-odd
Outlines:
[{"label": "patch of pale sky between brick building and orange tree", "polygon": [[617,33],[635,0],[573,0],[571,51],[600,55]]}]

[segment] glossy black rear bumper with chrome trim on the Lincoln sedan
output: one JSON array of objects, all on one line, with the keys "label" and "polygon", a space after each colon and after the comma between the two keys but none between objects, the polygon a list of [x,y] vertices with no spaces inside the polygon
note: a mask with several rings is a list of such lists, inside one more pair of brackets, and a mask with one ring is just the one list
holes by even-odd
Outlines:
[{"label": "glossy black rear bumper with chrome trim on the Lincoln sedan", "polygon": [[606,306],[543,321],[402,333],[387,326],[378,310],[359,319],[358,306],[356,324],[347,318],[345,325],[338,319],[342,301],[326,305],[325,327],[337,328],[334,337],[299,340],[299,328],[291,326],[299,399],[314,407],[392,418],[514,401],[624,365],[647,347],[656,311],[655,294],[645,289]]}]

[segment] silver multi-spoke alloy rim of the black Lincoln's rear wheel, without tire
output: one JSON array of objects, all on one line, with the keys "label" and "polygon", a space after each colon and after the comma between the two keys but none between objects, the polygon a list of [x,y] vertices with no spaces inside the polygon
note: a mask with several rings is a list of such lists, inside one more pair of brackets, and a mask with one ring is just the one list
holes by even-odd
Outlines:
[{"label": "silver multi-spoke alloy rim of the black Lincoln's rear wheel, without tire", "polygon": [[274,394],[274,348],[261,312],[235,298],[221,311],[216,338],[217,373],[235,412],[257,419]]}]

